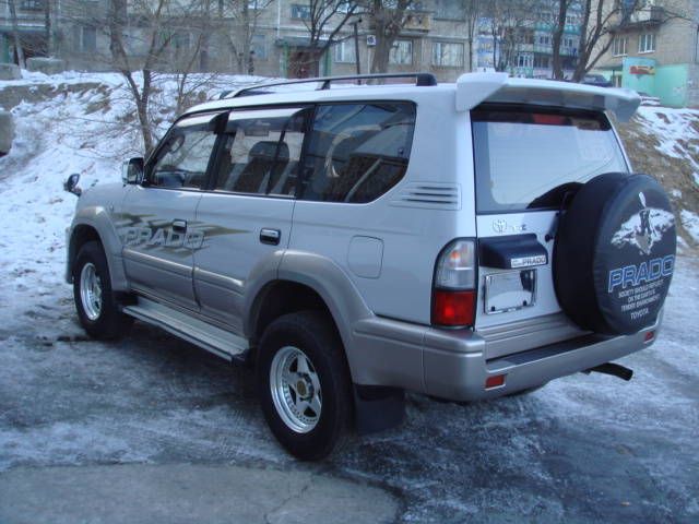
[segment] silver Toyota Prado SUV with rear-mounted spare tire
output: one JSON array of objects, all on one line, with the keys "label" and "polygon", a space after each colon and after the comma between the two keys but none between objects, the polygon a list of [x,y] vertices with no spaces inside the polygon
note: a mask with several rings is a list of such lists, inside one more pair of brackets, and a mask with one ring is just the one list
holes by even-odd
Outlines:
[{"label": "silver Toyota Prado SUV with rear-mounted spare tire", "polygon": [[654,341],[676,242],[605,114],[630,118],[638,95],[403,76],[227,94],[85,191],[67,279],[87,333],[138,319],[253,364],[272,432],[304,460],[399,424],[405,391],[628,380],[609,362]]}]

